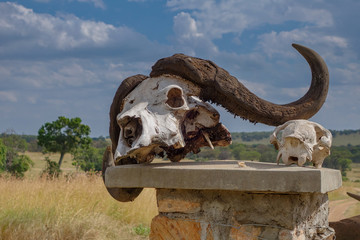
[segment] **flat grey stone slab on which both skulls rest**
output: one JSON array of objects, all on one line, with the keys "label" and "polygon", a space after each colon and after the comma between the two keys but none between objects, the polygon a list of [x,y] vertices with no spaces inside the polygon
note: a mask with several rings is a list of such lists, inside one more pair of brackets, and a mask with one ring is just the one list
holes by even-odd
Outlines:
[{"label": "flat grey stone slab on which both skulls rest", "polygon": [[341,173],[335,169],[250,161],[132,164],[110,167],[105,173],[108,188],[326,193],[341,183]]}]

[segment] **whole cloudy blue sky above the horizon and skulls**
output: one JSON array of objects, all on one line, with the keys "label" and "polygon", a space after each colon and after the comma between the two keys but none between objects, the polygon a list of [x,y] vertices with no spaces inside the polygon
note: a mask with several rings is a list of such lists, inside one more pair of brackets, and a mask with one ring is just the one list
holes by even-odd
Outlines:
[{"label": "whole cloudy blue sky above the horizon and skulls", "polygon": [[[37,134],[58,116],[81,117],[108,135],[121,81],[150,73],[174,53],[210,59],[258,96],[286,104],[310,85],[316,50],[330,72],[323,108],[311,120],[360,128],[358,0],[0,1],[0,132]],[[270,131],[221,108],[230,131]]]}]

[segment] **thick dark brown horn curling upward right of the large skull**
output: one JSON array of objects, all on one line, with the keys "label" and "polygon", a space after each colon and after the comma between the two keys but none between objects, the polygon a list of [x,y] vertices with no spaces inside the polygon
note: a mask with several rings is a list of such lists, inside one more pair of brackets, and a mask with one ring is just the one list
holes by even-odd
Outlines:
[{"label": "thick dark brown horn curling upward right of the large skull", "polygon": [[298,44],[292,46],[310,65],[312,81],[302,98],[285,105],[259,98],[213,62],[183,54],[160,59],[152,67],[150,77],[162,74],[181,76],[201,86],[202,100],[220,104],[231,113],[251,122],[278,126],[292,119],[312,117],[325,102],[329,87],[328,69],[320,55]]}]

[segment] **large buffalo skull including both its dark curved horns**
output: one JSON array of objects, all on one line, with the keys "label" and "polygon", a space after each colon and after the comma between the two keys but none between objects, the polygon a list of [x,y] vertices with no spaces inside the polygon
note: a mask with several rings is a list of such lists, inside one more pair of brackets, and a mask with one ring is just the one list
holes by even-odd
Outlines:
[{"label": "large buffalo skull including both its dark curved horns", "polygon": [[[230,144],[230,133],[219,123],[218,112],[206,102],[250,122],[272,126],[312,117],[327,96],[327,66],[315,51],[293,47],[309,63],[312,80],[302,98],[286,105],[259,98],[209,60],[183,54],[158,60],[150,76],[126,78],[110,108],[112,146],[104,154],[103,177],[110,166],[150,162],[164,153],[171,161],[179,161],[203,146]],[[141,189],[108,191],[119,201],[131,201]]]}]

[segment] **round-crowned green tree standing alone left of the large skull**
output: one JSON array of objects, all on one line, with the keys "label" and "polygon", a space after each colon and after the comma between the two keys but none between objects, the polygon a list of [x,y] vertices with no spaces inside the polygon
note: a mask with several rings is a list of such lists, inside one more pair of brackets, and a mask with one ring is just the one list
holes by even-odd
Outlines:
[{"label": "round-crowned green tree standing alone left of the large skull", "polygon": [[56,121],[41,126],[38,132],[38,144],[47,152],[59,152],[59,167],[61,167],[65,153],[90,145],[89,134],[90,127],[81,124],[80,118],[69,119],[60,116]]}]

